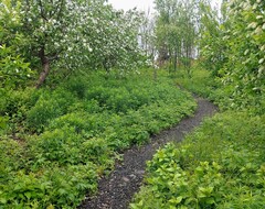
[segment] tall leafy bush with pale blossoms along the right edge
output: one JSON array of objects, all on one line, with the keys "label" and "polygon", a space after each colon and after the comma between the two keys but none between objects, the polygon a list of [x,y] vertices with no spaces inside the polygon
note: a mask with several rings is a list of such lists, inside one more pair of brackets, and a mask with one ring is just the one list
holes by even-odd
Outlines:
[{"label": "tall leafy bush with pale blossoms along the right edge", "polygon": [[203,61],[212,61],[210,69],[218,70],[223,107],[264,112],[264,8],[259,0],[232,0],[223,6],[223,22],[208,21],[215,21],[219,35],[214,32],[202,37],[202,56]]}]

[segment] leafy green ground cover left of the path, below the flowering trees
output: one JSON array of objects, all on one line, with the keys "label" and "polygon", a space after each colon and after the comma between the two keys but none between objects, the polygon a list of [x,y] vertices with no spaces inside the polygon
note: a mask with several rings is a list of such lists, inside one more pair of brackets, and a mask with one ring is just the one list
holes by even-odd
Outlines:
[{"label": "leafy green ground cover left of the path, below the flowering trees", "polygon": [[0,208],[75,208],[119,151],[192,114],[195,102],[162,75],[72,76],[55,89],[0,99]]}]

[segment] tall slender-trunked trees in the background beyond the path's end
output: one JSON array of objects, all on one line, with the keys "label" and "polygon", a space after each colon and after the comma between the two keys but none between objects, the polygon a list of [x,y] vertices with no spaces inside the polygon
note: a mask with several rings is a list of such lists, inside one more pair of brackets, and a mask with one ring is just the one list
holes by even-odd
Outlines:
[{"label": "tall slender-trunked trees in the background beyond the path's end", "polygon": [[182,64],[190,74],[197,38],[197,1],[156,0],[155,4],[158,11],[156,46],[159,62],[169,59],[174,72]]}]

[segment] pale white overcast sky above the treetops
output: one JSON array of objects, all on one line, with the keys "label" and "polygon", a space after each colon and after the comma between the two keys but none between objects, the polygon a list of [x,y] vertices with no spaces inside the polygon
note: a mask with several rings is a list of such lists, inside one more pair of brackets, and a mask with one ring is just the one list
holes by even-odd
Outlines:
[{"label": "pale white overcast sky above the treetops", "polygon": [[[153,9],[153,0],[108,0],[109,3],[114,6],[115,9],[123,9],[125,11],[134,8],[147,11],[149,8]],[[222,0],[212,0],[215,6],[216,2],[222,2]]]}]

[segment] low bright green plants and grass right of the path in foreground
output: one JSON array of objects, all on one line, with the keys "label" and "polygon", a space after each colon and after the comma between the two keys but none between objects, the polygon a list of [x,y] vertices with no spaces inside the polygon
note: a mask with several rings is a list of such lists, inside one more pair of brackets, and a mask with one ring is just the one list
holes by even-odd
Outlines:
[{"label": "low bright green plants and grass right of the path in foreground", "polygon": [[[241,123],[239,123],[241,121]],[[264,116],[224,112],[148,163],[130,208],[262,208]]]}]

